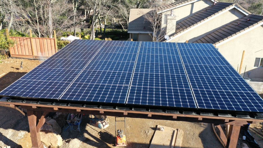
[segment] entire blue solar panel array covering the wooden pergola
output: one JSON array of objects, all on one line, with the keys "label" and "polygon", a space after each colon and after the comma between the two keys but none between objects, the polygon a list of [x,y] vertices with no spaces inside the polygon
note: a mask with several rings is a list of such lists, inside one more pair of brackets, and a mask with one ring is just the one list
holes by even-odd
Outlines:
[{"label": "entire blue solar panel array covering the wooden pergola", "polygon": [[212,44],[74,40],[1,96],[263,112]]}]

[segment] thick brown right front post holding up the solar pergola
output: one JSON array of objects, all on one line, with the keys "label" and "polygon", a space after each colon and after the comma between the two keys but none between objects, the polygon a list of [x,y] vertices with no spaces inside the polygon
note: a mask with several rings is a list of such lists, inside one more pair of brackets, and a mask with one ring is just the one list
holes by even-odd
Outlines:
[{"label": "thick brown right front post holding up the solar pergola", "polygon": [[226,148],[235,148],[236,147],[239,132],[240,132],[240,126],[239,125],[230,125],[229,126]]}]

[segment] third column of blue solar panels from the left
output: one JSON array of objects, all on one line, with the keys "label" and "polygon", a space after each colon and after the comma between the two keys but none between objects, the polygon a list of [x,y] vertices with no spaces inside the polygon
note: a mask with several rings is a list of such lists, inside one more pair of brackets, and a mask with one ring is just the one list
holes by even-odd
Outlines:
[{"label": "third column of blue solar panels from the left", "polygon": [[175,43],[141,42],[127,103],[196,108]]}]

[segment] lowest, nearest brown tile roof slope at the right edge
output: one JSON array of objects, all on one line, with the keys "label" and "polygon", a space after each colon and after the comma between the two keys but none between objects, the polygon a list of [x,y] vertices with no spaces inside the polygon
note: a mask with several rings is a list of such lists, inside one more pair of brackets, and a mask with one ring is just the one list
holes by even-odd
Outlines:
[{"label": "lowest, nearest brown tile roof slope at the right edge", "polygon": [[256,14],[249,14],[245,17],[239,18],[226,26],[194,41],[194,43],[211,43],[217,44],[231,38],[242,31],[245,31],[259,23],[263,22],[263,16]]}]

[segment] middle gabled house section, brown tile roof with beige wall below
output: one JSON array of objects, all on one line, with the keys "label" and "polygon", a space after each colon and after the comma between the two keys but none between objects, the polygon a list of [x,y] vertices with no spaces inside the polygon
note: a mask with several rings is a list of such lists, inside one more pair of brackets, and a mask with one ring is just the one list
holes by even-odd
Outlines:
[{"label": "middle gabled house section, brown tile roof with beige wall below", "polygon": [[218,2],[206,7],[193,16],[176,22],[176,30],[170,34],[168,42],[193,42],[217,30],[221,26],[250,12],[236,3]]}]

